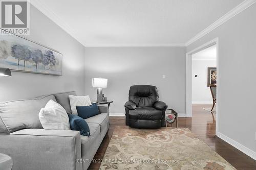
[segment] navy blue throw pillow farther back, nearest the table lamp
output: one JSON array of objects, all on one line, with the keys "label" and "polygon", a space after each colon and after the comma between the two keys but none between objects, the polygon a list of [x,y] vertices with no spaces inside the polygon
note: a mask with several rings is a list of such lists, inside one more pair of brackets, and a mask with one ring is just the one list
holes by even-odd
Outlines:
[{"label": "navy blue throw pillow farther back, nearest the table lamp", "polygon": [[76,110],[77,110],[78,116],[82,117],[83,119],[99,114],[97,103],[92,104],[90,106],[76,106]]}]

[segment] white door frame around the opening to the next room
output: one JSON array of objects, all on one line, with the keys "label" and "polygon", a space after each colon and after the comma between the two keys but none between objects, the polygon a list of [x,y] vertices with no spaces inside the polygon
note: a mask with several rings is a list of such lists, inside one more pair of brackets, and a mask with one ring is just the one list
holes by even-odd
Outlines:
[{"label": "white door frame around the opening to the next room", "polygon": [[191,50],[186,54],[186,117],[192,117],[192,55],[198,53],[209,46],[217,46],[217,104],[216,104],[216,133],[218,132],[218,113],[219,113],[219,38],[212,39],[211,41],[206,42],[205,44]]}]

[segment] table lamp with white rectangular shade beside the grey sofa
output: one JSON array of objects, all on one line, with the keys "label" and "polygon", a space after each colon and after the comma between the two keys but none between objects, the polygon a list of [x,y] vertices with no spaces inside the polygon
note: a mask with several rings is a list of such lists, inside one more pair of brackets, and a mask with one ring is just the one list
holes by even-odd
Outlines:
[{"label": "table lamp with white rectangular shade beside the grey sofa", "polygon": [[97,102],[102,102],[102,88],[108,86],[108,79],[93,78],[93,87],[97,88]]}]

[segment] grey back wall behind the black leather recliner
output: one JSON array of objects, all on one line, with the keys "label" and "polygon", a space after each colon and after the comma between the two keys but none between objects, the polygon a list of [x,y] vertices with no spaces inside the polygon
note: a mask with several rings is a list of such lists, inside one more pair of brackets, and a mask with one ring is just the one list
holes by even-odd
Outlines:
[{"label": "grey back wall behind the black leather recliner", "polygon": [[103,94],[114,100],[110,111],[124,113],[131,85],[155,85],[161,101],[185,113],[185,51],[185,47],[86,47],[86,94],[96,99],[92,78],[108,78]]}]

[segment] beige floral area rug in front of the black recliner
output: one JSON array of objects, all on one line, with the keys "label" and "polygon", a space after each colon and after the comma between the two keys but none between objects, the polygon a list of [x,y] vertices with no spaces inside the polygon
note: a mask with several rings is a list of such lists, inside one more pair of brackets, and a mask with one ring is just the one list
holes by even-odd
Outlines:
[{"label": "beige floral area rug in front of the black recliner", "polygon": [[187,128],[116,127],[100,169],[236,169]]}]

